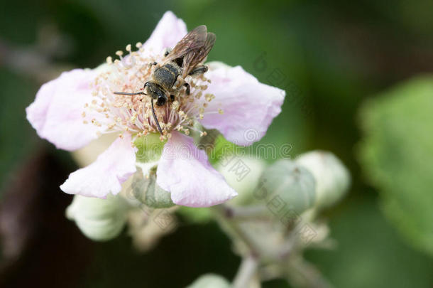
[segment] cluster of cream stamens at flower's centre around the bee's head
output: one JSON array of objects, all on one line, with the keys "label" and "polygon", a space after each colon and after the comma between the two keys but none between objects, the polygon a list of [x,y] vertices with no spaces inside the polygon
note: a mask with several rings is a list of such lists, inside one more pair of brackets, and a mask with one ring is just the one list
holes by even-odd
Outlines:
[{"label": "cluster of cream stamens at flower's centre around the bee's head", "polygon": [[[114,92],[144,92],[144,84],[152,80],[153,71],[160,63],[164,63],[163,56],[144,53],[141,43],[137,43],[138,50],[132,51],[131,45],[126,46],[128,55],[123,57],[122,51],[117,51],[119,59],[106,58],[106,64],[99,68],[101,73],[92,82],[92,102],[85,105],[86,110],[96,111],[102,117],[92,119],[92,124],[102,127],[106,125],[106,133],[131,132],[138,137],[150,132],[158,132],[158,127],[152,113],[152,98],[150,95],[116,95]],[[153,65],[153,63],[158,63]],[[184,83],[190,84],[190,95],[187,95]],[[170,138],[172,130],[190,134],[197,119],[204,117],[204,109],[214,95],[205,94],[207,84],[211,82],[201,75],[187,76],[185,80],[177,78],[165,105],[155,107],[163,135],[161,140]],[[155,104],[155,103],[154,103]],[[83,117],[86,111],[83,112]],[[87,121],[84,121],[86,123]],[[200,136],[205,132],[199,131]]]}]

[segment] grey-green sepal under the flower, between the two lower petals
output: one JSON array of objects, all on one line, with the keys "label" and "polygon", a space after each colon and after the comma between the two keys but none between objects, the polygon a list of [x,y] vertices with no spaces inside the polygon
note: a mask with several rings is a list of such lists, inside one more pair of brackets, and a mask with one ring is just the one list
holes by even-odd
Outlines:
[{"label": "grey-green sepal under the flower, between the two lower petals", "polygon": [[148,174],[143,174],[138,169],[134,174],[131,189],[133,197],[141,203],[151,208],[169,208],[175,206],[171,200],[171,194],[160,188],[156,183],[155,169],[151,169]]}]

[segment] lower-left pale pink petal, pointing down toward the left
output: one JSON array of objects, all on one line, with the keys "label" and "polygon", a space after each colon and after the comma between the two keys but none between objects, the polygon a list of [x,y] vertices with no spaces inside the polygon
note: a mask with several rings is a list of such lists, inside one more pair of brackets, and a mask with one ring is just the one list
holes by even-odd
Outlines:
[{"label": "lower-left pale pink petal, pointing down toward the left", "polygon": [[68,194],[106,198],[116,195],[121,184],[136,172],[136,154],[131,146],[131,136],[116,139],[96,161],[70,174],[60,189]]}]

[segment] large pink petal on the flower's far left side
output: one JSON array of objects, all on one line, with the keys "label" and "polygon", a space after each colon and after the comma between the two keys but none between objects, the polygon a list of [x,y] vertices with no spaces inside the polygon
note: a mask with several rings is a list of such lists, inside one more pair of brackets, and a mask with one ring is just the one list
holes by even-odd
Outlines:
[{"label": "large pink petal on the flower's far left side", "polygon": [[[97,138],[101,127],[84,124],[84,104],[92,101],[89,87],[93,70],[75,69],[40,87],[35,101],[26,108],[27,119],[38,135],[59,149],[75,150]],[[99,118],[99,115],[87,115]]]}]

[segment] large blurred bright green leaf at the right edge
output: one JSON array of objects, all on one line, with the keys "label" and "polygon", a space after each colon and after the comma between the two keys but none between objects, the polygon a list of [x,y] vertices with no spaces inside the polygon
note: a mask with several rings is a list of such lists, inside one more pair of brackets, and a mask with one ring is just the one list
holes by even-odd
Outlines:
[{"label": "large blurred bright green leaf at the right edge", "polygon": [[361,110],[360,159],[385,214],[433,255],[433,78],[410,80]]}]

